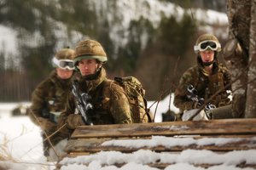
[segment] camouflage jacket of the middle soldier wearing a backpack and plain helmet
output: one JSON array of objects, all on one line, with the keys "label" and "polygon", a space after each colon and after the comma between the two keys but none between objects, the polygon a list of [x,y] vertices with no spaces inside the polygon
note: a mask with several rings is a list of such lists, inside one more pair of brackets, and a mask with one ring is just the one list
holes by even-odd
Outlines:
[{"label": "camouflage jacket of the middle soldier wearing a backpack and plain helmet", "polygon": [[[123,124],[132,122],[129,102],[123,88],[114,83],[106,83],[110,80],[106,77],[104,68],[99,71],[96,79],[85,80],[80,73],[75,78],[79,81],[81,93],[87,93],[91,97],[93,114],[90,115],[90,119],[93,124]],[[67,108],[61,113],[59,118],[59,126],[61,127],[67,123],[67,116],[78,113],[76,99],[73,93],[70,93],[68,95]]]}]

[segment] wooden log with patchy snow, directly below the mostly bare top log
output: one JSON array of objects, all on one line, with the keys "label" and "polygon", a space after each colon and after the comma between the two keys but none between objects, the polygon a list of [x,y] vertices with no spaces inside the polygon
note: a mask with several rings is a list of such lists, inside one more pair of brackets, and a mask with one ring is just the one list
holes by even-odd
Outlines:
[{"label": "wooden log with patchy snow, directly below the mostly bare top log", "polygon": [[[180,138],[178,138],[180,139]],[[182,143],[182,139],[187,139],[187,138],[181,138],[180,143]],[[96,153],[99,151],[120,151],[123,153],[131,153],[136,150],[154,150],[156,152],[162,152],[162,151],[182,151],[182,150],[189,150],[189,149],[194,149],[194,150],[212,150],[212,151],[231,151],[231,150],[256,150],[256,138],[255,137],[246,137],[246,138],[227,138],[229,139],[228,142],[225,144],[198,144],[199,140],[201,139],[207,139],[208,141],[214,141],[214,139],[218,138],[208,138],[208,137],[202,137],[201,139],[193,139],[189,138],[193,141],[194,143],[191,143],[189,145],[183,145],[183,144],[174,144],[171,146],[166,146],[164,144],[160,144],[160,142],[157,142],[160,145],[153,145],[150,146],[148,144],[151,144],[154,142],[151,139],[71,139],[69,140],[66,151],[67,153],[69,152],[90,152],[90,153]],[[218,140],[224,140],[225,138],[222,137],[221,139]],[[170,143],[175,140],[174,138],[167,139],[166,141],[170,141]],[[106,141],[111,141],[115,142],[116,144],[106,144]],[[142,144],[142,146],[132,146],[136,145],[137,141]],[[104,143],[105,142],[105,143]],[[131,145],[124,146],[120,143],[130,143]],[[150,143],[151,142],[151,143]],[[147,144],[148,143],[148,144]]]}]

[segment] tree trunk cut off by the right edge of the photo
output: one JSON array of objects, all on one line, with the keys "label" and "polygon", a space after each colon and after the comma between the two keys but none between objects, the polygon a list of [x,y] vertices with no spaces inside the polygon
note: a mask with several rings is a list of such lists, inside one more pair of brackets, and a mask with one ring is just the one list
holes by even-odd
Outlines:
[{"label": "tree trunk cut off by the right edge of the photo", "polygon": [[256,117],[256,0],[251,2],[251,27],[249,48],[249,69],[247,82],[247,103],[245,117]]}]

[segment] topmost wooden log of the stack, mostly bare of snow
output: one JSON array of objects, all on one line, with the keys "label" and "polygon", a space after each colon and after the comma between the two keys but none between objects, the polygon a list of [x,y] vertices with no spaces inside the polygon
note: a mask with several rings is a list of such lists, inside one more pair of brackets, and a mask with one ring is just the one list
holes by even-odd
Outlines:
[{"label": "topmost wooden log of the stack, mostly bare of snow", "polygon": [[146,137],[152,135],[256,134],[256,119],[223,119],[198,122],[154,122],[77,127],[71,139]]}]

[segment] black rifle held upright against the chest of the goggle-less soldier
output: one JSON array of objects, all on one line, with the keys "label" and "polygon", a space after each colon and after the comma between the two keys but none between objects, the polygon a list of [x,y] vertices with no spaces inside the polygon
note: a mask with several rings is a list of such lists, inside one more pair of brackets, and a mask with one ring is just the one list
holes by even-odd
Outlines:
[{"label": "black rifle held upright against the chest of the goggle-less soldier", "polygon": [[93,123],[90,120],[90,117],[88,116],[89,113],[93,111],[93,107],[90,104],[90,95],[86,93],[80,93],[79,90],[79,82],[74,80],[73,81],[73,95],[76,98],[77,107],[79,109],[79,113],[81,114],[83,121],[86,125],[92,126]]}]

